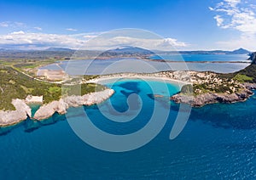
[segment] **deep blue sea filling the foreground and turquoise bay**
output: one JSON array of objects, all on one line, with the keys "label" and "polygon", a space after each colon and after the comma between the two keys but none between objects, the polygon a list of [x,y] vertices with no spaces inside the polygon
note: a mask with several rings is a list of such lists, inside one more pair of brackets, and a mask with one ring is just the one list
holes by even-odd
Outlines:
[{"label": "deep blue sea filling the foreground and turquoise bay", "polygon": [[[183,131],[170,140],[179,104],[170,103],[165,96],[177,93],[176,85],[168,85],[169,92],[161,82],[127,80],[107,85],[116,91],[112,98],[98,106],[69,109],[68,121],[86,121],[86,112],[102,131],[129,134],[147,126],[154,105],[162,110],[171,105],[165,126],[152,141],[139,149],[114,153],[84,143],[65,115],[40,122],[26,120],[1,128],[0,179],[256,178],[255,95],[243,103],[208,104],[193,109]],[[164,97],[154,100],[149,96],[153,93],[151,87]],[[140,97],[138,105],[143,104],[134,120],[116,122],[102,115],[100,110],[115,115],[109,104],[119,112],[128,110],[127,97],[131,94]],[[158,120],[162,120],[161,115]]]}]

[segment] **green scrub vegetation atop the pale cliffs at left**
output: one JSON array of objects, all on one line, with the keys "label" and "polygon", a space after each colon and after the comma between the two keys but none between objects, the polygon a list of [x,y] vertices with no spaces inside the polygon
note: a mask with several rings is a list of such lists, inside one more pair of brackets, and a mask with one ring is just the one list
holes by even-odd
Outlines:
[{"label": "green scrub vegetation atop the pale cliffs at left", "polygon": [[53,100],[60,99],[62,93],[83,95],[106,88],[96,84],[82,84],[66,86],[64,91],[61,91],[60,84],[39,82],[12,67],[3,65],[0,65],[0,76],[0,110],[14,110],[15,108],[11,104],[12,99],[25,99],[28,94],[34,96],[43,95],[44,104],[47,104]]}]

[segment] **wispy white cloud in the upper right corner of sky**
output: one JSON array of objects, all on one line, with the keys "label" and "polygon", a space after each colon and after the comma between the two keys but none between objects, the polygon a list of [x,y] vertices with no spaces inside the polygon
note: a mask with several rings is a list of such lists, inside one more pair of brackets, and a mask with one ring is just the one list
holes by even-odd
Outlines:
[{"label": "wispy white cloud in the upper right corner of sky", "polygon": [[247,48],[255,50],[252,42],[256,41],[255,0],[223,0],[216,7],[209,9],[217,13],[214,19],[223,29],[240,32],[240,36],[229,41],[217,42],[220,48]]}]

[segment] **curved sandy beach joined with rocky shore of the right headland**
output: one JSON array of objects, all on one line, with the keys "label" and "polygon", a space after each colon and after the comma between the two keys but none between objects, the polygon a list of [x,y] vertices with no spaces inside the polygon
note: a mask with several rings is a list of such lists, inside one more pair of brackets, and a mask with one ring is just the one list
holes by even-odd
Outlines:
[{"label": "curved sandy beach joined with rocky shore of the right headland", "polygon": [[[165,72],[161,72],[164,73]],[[175,83],[180,88],[182,88],[184,85],[192,85],[193,82],[198,82],[198,80],[195,80],[195,75],[201,77],[201,73],[198,73],[196,71],[187,71],[189,74],[189,80],[188,78],[184,78],[182,75],[184,75],[183,71],[180,72],[181,76],[177,76],[177,79],[166,77],[166,75],[160,75],[160,73],[153,73],[153,74],[136,74],[136,73],[120,73],[120,74],[113,74],[113,75],[104,75],[97,77],[96,79],[92,79],[88,82],[94,82],[94,83],[109,83],[109,82],[115,82],[116,80],[122,80],[122,79],[144,79],[144,80],[154,80],[158,82],[167,82],[167,83]],[[175,74],[175,72],[170,72],[170,74]],[[177,73],[178,75],[179,73]],[[185,75],[188,75],[185,73]],[[207,74],[207,72],[205,72]],[[207,76],[212,76],[215,78],[216,74],[209,72]],[[150,76],[148,76],[150,75]],[[170,76],[170,75],[169,75]],[[173,75],[172,75],[173,77]],[[184,79],[186,81],[184,81]],[[200,80],[201,81],[201,80]],[[181,91],[172,97],[170,97],[170,100],[174,101],[177,104],[189,104],[192,107],[202,107],[206,104],[216,104],[216,103],[225,103],[225,104],[231,104],[236,102],[243,102],[246,101],[247,98],[251,97],[253,95],[252,90],[256,89],[256,83],[239,83],[239,86],[241,90],[239,92],[233,92],[233,93],[201,93],[199,95],[189,95],[184,94]],[[154,96],[157,96],[158,94],[154,94]]]}]

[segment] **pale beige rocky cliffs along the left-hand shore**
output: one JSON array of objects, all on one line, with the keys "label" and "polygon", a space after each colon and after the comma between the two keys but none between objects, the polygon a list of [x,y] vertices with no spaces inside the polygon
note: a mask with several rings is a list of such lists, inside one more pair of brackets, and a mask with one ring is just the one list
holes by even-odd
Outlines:
[{"label": "pale beige rocky cliffs along the left-hand shore", "polygon": [[12,104],[15,110],[0,110],[0,127],[6,127],[26,120],[27,117],[35,120],[44,120],[54,115],[55,112],[65,114],[69,107],[78,107],[81,105],[100,104],[104,100],[113,95],[113,89],[105,89],[102,92],[88,93],[84,96],[68,96],[61,98],[59,101],[53,101],[49,104],[44,104],[36,111],[32,117],[32,109],[27,105],[30,102],[21,99],[14,99]]}]

